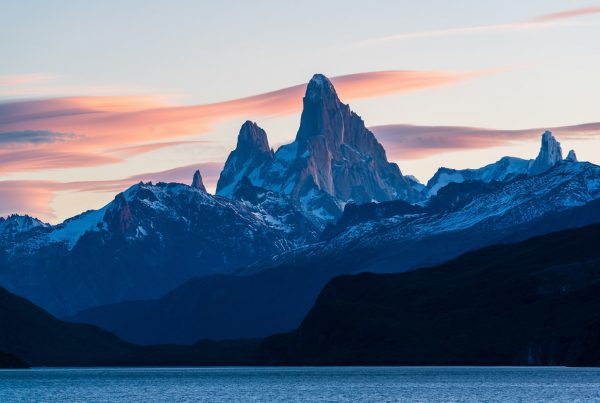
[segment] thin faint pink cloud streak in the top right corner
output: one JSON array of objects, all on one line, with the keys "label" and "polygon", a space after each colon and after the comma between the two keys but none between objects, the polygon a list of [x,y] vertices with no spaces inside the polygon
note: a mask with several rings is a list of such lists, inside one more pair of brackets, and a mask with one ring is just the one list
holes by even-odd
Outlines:
[{"label": "thin faint pink cloud streak in the top right corner", "polygon": [[395,35],[382,36],[379,38],[367,39],[358,43],[358,45],[372,45],[376,43],[395,42],[407,39],[443,37],[452,35],[477,34],[482,32],[505,32],[520,31],[526,29],[551,28],[569,25],[562,20],[572,19],[585,15],[600,13],[600,6],[584,7],[573,10],[566,10],[558,13],[545,14],[525,21],[517,21],[503,24],[476,25],[470,27],[457,27],[449,29],[438,29],[431,31],[404,32]]}]

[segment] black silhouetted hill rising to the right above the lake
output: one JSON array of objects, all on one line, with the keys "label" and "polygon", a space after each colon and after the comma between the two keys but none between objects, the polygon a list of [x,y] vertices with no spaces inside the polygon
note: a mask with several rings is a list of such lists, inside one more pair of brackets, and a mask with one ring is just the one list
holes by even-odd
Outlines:
[{"label": "black silhouetted hill rising to the right above the lake", "polygon": [[271,362],[599,365],[600,225],[332,280]]}]

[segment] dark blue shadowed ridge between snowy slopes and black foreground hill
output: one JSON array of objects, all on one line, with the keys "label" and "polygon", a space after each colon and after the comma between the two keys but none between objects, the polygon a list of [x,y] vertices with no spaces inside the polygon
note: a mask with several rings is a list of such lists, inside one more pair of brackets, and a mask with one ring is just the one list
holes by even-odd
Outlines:
[{"label": "dark blue shadowed ridge between snowy slopes and black foreground hill", "polygon": [[[552,180],[551,177],[547,179]],[[564,179],[569,182],[568,178]],[[470,186],[469,183],[455,185]],[[551,189],[548,191],[554,193]],[[500,189],[492,194],[505,193]],[[529,197],[529,192],[527,195]],[[537,196],[540,200],[548,200],[545,196]],[[454,199],[448,197],[445,200]],[[95,307],[69,319],[96,324],[125,340],[142,344],[265,337],[296,328],[319,292],[335,276],[362,271],[414,270],[441,263],[477,246],[516,242],[534,235],[600,222],[600,200],[560,212],[554,212],[554,207],[547,205],[548,213],[527,217],[519,225],[515,224],[515,215],[510,209],[497,214],[504,199],[498,199],[501,204],[496,206],[489,198],[483,200],[485,202],[480,202],[485,208],[494,213],[492,219],[482,219],[481,223],[465,229],[439,230],[440,223],[462,225],[464,221],[455,217],[469,217],[463,215],[464,206],[457,207],[455,213],[452,210],[437,212],[440,207],[436,206],[434,213],[359,222],[322,243],[265,259],[242,269],[237,275],[195,278],[156,300]],[[556,197],[556,200],[561,199]],[[465,202],[474,206],[472,201]],[[530,203],[523,204],[520,210],[530,211],[528,206],[538,205],[538,201]],[[367,208],[371,209],[369,205]],[[504,226],[502,223],[506,221]],[[417,231],[417,223],[422,225],[421,228],[431,226],[432,233],[414,238],[409,231]]]}]

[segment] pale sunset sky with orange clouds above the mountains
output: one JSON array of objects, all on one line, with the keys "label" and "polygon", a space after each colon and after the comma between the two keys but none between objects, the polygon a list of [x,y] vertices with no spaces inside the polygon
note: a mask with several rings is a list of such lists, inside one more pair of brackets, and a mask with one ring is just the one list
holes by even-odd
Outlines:
[{"label": "pale sunset sky with orange clouds above the mountains", "polygon": [[[218,3],[218,4],[217,4]],[[214,191],[246,120],[292,141],[327,75],[405,174],[600,163],[600,2],[0,0],[0,216],[58,223],[140,180]]]}]

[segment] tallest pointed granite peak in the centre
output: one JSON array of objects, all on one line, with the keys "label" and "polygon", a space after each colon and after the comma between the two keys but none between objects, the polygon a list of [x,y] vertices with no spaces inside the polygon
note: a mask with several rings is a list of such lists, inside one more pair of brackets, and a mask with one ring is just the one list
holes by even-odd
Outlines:
[{"label": "tallest pointed granite peak in the centre", "polygon": [[315,75],[308,84],[296,136],[301,175],[292,194],[314,186],[337,200],[415,200],[396,164],[362,119],[340,102],[331,82]]}]

